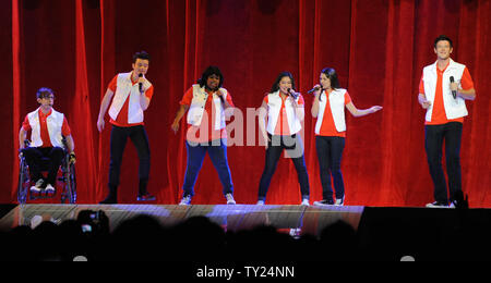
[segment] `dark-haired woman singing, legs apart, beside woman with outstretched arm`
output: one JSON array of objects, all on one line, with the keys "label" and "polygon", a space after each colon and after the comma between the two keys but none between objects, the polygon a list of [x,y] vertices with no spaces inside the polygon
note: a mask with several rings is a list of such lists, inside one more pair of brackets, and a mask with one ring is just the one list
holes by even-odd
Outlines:
[{"label": "dark-haired woman singing, legs apart, beside woman with outstretched arm", "polygon": [[[310,205],[309,174],[303,158],[303,145],[300,138],[304,118],[303,97],[295,90],[294,76],[282,72],[274,82],[260,108],[259,127],[265,140],[266,158],[261,176],[258,204],[264,205],[271,180],[285,149],[294,162],[300,184],[301,205]],[[267,120],[267,122],[266,122]]]}]

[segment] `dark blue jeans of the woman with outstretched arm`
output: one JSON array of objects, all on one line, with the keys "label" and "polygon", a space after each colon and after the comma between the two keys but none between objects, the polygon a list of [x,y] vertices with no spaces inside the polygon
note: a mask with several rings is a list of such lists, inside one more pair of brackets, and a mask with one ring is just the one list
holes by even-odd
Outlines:
[{"label": "dark blue jeans of the woman with outstretched arm", "polygon": [[319,171],[321,174],[322,197],[333,200],[333,189],[331,188],[331,175],[336,189],[336,199],[345,196],[345,185],[340,162],[343,150],[345,149],[345,138],[337,136],[315,136],[315,149],[318,150]]}]

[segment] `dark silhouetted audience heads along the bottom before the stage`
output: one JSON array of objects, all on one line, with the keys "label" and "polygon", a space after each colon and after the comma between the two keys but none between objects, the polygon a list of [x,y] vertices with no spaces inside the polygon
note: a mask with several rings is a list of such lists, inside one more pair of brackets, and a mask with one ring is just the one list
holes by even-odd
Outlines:
[{"label": "dark silhouetted audience heads along the bottom before the stage", "polygon": [[[435,210],[432,210],[435,211]],[[110,231],[101,210],[81,211],[60,224],[43,221],[0,232],[0,260],[9,261],[193,261],[276,262],[487,259],[491,245],[488,210],[469,212],[467,198],[457,196],[451,225],[404,226],[398,221],[372,223],[355,230],[337,221],[319,235],[292,237],[272,225],[226,231],[205,217],[192,217],[172,226],[139,214]],[[434,212],[439,213],[439,212]],[[381,224],[382,223],[382,224]],[[433,223],[428,221],[428,223]],[[361,233],[360,233],[361,230]],[[423,235],[423,236],[422,236]],[[364,237],[364,238],[361,238]]]}]

